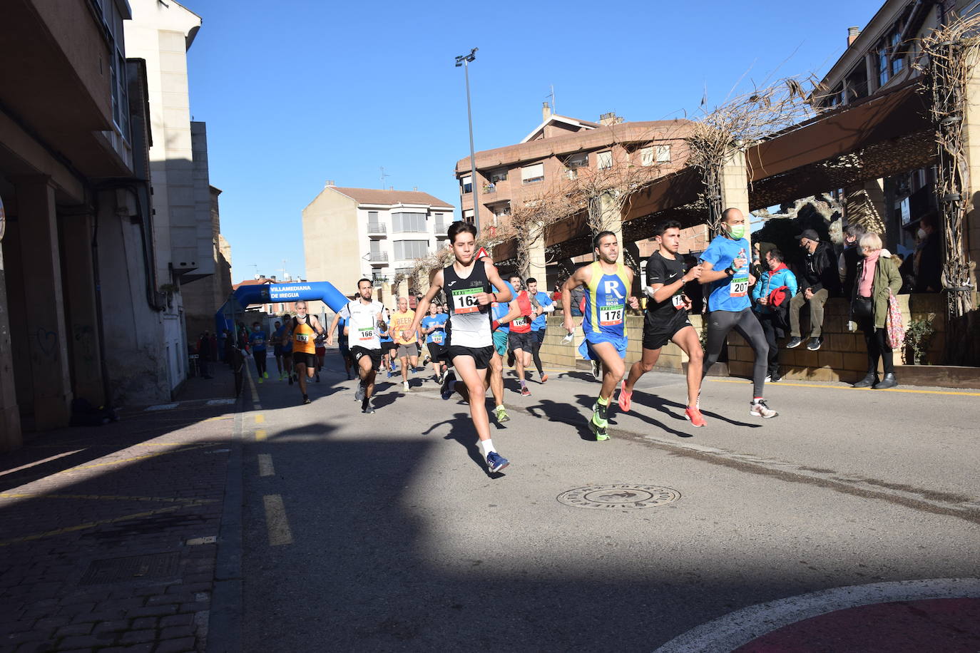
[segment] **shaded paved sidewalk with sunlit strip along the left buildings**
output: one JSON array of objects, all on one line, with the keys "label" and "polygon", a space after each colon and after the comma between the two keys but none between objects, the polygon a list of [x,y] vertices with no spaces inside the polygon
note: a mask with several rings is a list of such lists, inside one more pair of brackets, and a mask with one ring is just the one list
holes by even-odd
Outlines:
[{"label": "shaded paved sidewalk with sunlit strip along the left buildings", "polygon": [[[238,403],[216,380],[0,456],[0,651],[204,651]],[[207,384],[207,385],[204,385]]]}]

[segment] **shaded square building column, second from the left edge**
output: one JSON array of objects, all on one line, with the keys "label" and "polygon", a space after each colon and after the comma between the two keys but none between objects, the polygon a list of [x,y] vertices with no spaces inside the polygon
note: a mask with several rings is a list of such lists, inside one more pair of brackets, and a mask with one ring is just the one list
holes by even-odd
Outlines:
[{"label": "shaded square building column, second from the left edge", "polygon": [[72,404],[55,193],[46,176],[24,177],[15,183],[34,423],[38,431],[45,431],[68,426]]}]

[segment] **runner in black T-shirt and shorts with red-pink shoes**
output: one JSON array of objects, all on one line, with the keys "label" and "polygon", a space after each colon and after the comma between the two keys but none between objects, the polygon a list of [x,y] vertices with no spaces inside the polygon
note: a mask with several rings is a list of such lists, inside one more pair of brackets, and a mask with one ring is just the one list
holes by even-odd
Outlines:
[{"label": "runner in black T-shirt and shorts with red-pink shoes", "polygon": [[684,417],[694,426],[705,426],[698,409],[701,392],[701,368],[705,357],[698,332],[691,325],[687,311],[691,300],[684,294],[684,285],[701,277],[701,266],[695,265],[684,273],[684,259],[678,256],[680,222],[666,220],[654,227],[658,250],[647,260],[647,301],[643,320],[643,357],[629,368],[629,376],[619,388],[619,407],[629,412],[633,387],[644,374],[654,369],[661,349],[673,341],[690,358],[687,363],[687,407]]}]

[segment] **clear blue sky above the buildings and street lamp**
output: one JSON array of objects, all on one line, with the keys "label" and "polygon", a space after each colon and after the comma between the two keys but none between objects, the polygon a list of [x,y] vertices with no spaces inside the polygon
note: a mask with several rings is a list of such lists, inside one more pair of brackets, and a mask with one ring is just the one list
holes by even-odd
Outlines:
[{"label": "clear blue sky above the buildings and street lamp", "polygon": [[[301,211],[326,179],[430,193],[454,206],[469,155],[519,141],[554,84],[558,113],[597,120],[693,115],[750,79],[814,71],[882,0],[449,3],[185,0],[204,24],[188,53],[194,119],[233,281],[304,275]],[[476,11],[473,11],[473,8]],[[457,215],[459,215],[457,209]],[[258,268],[253,267],[257,265]]]}]

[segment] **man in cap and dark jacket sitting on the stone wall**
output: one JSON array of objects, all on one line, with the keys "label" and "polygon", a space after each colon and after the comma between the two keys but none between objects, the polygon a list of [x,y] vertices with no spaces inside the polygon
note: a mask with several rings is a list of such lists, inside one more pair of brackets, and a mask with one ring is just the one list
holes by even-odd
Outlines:
[{"label": "man in cap and dark jacket sitting on the stone wall", "polygon": [[816,351],[823,345],[823,304],[827,299],[841,294],[841,279],[837,276],[837,257],[830,243],[821,243],[812,229],[805,229],[796,237],[806,255],[803,269],[798,275],[800,292],[790,302],[790,342],[792,350],[803,342],[800,331],[800,309],[809,303],[809,343],[807,349]]}]

